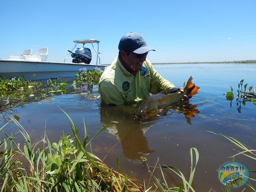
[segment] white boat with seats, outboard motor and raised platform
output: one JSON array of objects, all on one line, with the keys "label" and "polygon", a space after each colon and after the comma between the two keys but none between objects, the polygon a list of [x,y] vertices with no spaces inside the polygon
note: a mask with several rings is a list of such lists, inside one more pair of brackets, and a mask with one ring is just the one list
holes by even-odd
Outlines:
[{"label": "white boat with seats, outboard motor and raised platform", "polygon": [[[48,48],[40,48],[36,54],[31,55],[32,49],[24,50],[20,56],[10,56],[9,59],[0,59],[0,76],[5,78],[23,77],[25,80],[48,80],[57,78],[75,77],[79,73],[80,68],[93,70],[96,67],[103,69],[106,65],[100,64],[100,41],[95,39],[75,40],[75,46],[72,50],[68,50],[64,62],[48,62]],[[94,44],[97,44],[97,50]],[[77,44],[82,44],[82,48],[77,48],[72,52]],[[92,54],[89,48],[84,47],[85,44],[91,44],[94,49],[97,61],[96,64],[90,64]],[[66,62],[66,58],[71,55],[72,63]],[[33,77],[34,76],[34,77]],[[33,77],[33,78],[32,78]]]}]

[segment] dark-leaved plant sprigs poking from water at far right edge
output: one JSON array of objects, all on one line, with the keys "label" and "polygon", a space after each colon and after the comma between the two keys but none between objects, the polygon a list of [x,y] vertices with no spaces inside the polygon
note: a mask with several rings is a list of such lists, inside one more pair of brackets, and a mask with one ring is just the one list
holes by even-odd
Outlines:
[{"label": "dark-leaved plant sprigs poking from water at far right edge", "polygon": [[[253,86],[250,86],[248,90],[246,90],[248,84],[244,85],[243,88],[243,83],[244,80],[241,80],[240,83],[238,83],[238,95],[236,98],[236,105],[238,106],[237,110],[240,113],[241,112],[241,104],[245,105],[246,102],[253,102],[253,104],[256,105],[256,94],[255,94],[255,88],[253,89]],[[233,88],[230,86],[231,92],[226,93],[226,99],[230,100],[230,107],[232,106],[232,100],[234,99],[234,94],[233,94]]]}]

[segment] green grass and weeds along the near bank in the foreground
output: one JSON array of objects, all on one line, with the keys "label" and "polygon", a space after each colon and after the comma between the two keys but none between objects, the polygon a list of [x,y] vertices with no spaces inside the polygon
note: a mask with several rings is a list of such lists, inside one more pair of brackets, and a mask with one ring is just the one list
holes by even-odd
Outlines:
[{"label": "green grass and weeds along the near bank in the foreground", "polygon": [[[61,108],[60,108],[61,109]],[[62,109],[61,109],[62,110]],[[62,110],[64,112],[64,110]],[[66,112],[64,112],[66,114]],[[98,133],[89,139],[86,134],[86,126],[84,122],[84,136],[80,137],[78,134],[78,128],[76,128],[74,122],[68,114],[74,138],[69,138],[70,134],[60,134],[60,141],[50,142],[46,135],[44,138],[32,144],[30,136],[26,132],[25,128],[18,123],[14,118],[10,119],[10,122],[14,122],[19,128],[19,134],[24,138],[24,143],[16,143],[14,141],[15,135],[8,135],[6,133],[6,123],[2,128],[0,127],[1,140],[0,147],[3,148],[0,151],[0,191],[8,192],[196,192],[192,187],[196,166],[199,160],[199,152],[196,148],[190,148],[190,170],[189,178],[185,178],[184,174],[174,166],[160,164],[160,158],[155,166],[150,167],[145,160],[152,180],[136,180],[136,178],[128,178],[122,174],[120,164],[118,162],[118,156],[116,157],[118,170],[109,168],[102,160],[92,153],[92,146],[90,142],[100,132],[106,129],[108,125],[105,125],[98,131]],[[5,128],[5,130],[4,130]],[[212,134],[216,134],[212,132]],[[254,149],[248,148],[238,140],[223,136],[228,142],[236,148],[240,148],[239,153],[233,155],[246,155],[249,158],[255,160]],[[28,162],[29,167],[24,167],[23,162]],[[155,176],[155,170],[160,169],[162,175],[160,178]],[[256,172],[256,170],[248,170],[250,172]],[[179,181],[175,181],[175,185],[170,184],[168,174],[164,172],[170,172],[179,177]],[[172,176],[171,176],[172,178]],[[173,178],[172,178],[173,179]],[[252,177],[250,182],[256,180]],[[256,189],[252,183],[246,183],[246,188],[252,192]],[[214,186],[209,186],[210,191],[216,192]],[[224,192],[230,192],[228,186],[224,186]],[[242,188],[244,191],[245,188]]]}]

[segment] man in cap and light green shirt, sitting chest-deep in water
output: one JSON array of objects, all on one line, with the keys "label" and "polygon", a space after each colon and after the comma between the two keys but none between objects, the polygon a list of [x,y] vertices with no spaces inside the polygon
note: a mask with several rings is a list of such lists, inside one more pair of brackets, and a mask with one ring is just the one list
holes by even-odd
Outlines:
[{"label": "man in cap and light green shirt, sitting chest-deep in water", "polygon": [[[98,92],[107,105],[139,102],[148,98],[150,93],[158,94],[162,90],[169,93],[184,91],[156,72],[146,58],[149,51],[155,50],[147,46],[141,34],[130,32],[122,36],[118,50],[118,56],[106,68],[99,81]],[[184,95],[182,100],[189,98],[191,96]]]}]

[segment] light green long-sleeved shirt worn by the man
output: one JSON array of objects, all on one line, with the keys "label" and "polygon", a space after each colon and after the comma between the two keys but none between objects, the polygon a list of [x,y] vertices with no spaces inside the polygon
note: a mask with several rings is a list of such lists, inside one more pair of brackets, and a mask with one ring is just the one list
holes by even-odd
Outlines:
[{"label": "light green long-sleeved shirt worn by the man", "polygon": [[171,92],[175,86],[164,79],[146,59],[135,76],[122,66],[118,56],[100,77],[98,92],[108,105],[138,102],[162,90]]}]

